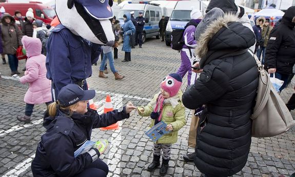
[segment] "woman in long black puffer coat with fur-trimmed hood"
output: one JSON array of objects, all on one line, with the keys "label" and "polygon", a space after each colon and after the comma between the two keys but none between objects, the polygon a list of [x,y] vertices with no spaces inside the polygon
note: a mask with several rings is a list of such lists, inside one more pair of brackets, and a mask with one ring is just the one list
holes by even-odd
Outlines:
[{"label": "woman in long black puffer coat with fur-trimmed hood", "polygon": [[189,109],[206,107],[197,132],[196,167],[205,176],[231,176],[245,166],[250,150],[250,116],[259,75],[248,48],[254,45],[255,35],[237,16],[225,14],[212,20],[208,15],[196,29],[196,33],[205,29],[196,48],[203,72],[182,101]]}]

